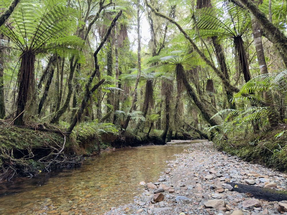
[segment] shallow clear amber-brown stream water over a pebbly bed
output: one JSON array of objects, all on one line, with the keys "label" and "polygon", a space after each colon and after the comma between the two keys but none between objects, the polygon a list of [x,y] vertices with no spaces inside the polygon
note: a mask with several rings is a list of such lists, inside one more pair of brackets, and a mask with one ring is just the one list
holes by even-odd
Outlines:
[{"label": "shallow clear amber-brown stream water over a pebbly bed", "polygon": [[166,160],[201,141],[117,149],[79,168],[7,182],[0,185],[0,214],[103,214],[133,202],[144,189],[140,181],[156,181]]}]

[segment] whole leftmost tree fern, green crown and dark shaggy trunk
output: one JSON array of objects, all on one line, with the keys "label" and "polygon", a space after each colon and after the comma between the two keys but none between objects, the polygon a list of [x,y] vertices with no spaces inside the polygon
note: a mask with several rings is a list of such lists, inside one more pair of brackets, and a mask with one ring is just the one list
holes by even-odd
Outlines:
[{"label": "whole leftmost tree fern, green crown and dark shaggy trunk", "polygon": [[[63,0],[21,1],[10,16],[11,23],[1,27],[7,36],[22,52],[18,73],[17,120],[22,125],[23,113],[28,100],[34,100],[34,62],[36,55],[43,52],[59,52],[65,48],[76,48],[82,40],[72,35],[77,26],[77,11],[66,7]],[[79,23],[78,23],[79,24]]]}]

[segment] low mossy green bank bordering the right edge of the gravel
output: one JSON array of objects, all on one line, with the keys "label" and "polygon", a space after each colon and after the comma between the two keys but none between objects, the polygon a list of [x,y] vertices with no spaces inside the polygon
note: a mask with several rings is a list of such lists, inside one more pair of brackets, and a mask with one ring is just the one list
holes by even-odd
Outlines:
[{"label": "low mossy green bank bordering the right edge of the gravel", "polygon": [[280,171],[287,171],[287,132],[285,127],[258,133],[234,134],[234,138],[214,138],[219,150],[237,155],[245,161],[256,162]]}]

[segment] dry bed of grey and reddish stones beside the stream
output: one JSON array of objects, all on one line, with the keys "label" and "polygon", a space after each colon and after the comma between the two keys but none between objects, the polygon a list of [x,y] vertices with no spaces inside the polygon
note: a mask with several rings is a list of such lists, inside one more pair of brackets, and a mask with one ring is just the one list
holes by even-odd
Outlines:
[{"label": "dry bed of grey and reddish stones beside the stream", "polygon": [[158,181],[139,182],[146,189],[134,203],[105,215],[287,214],[282,172],[219,152],[212,142],[192,144],[168,162]]}]

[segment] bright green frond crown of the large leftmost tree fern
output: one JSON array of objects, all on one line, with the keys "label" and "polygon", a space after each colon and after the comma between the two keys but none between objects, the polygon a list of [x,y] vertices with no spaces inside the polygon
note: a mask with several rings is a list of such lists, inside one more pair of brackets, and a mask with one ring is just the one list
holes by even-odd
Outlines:
[{"label": "bright green frond crown of the large leftmost tree fern", "polygon": [[20,1],[10,24],[2,26],[1,31],[20,50],[30,50],[34,54],[52,49],[62,52],[64,48],[68,50],[83,44],[79,37],[71,36],[79,11],[65,4],[61,0]]}]

